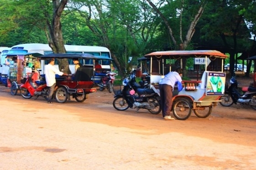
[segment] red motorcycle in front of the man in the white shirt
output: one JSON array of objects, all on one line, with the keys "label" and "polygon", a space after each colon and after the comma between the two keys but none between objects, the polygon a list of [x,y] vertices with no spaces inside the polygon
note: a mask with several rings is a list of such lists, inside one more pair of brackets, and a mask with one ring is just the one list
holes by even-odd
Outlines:
[{"label": "red motorcycle in front of the man in the white shirt", "polygon": [[[49,88],[46,85],[46,81],[42,80],[42,78],[41,80],[34,81],[32,78],[33,74],[35,73],[32,72],[31,75],[28,75],[24,84],[20,86],[21,96],[23,98],[32,98],[33,96],[38,98],[39,96],[42,96],[47,99]],[[35,98],[35,100],[37,98]]]}]

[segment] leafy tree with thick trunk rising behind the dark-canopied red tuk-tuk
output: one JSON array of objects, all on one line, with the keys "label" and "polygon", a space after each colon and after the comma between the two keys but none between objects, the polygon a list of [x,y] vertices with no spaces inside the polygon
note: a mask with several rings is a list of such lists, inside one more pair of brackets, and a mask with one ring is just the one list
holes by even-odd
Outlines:
[{"label": "leafy tree with thick trunk rising behind the dark-canopied red tuk-tuk", "polygon": [[[8,17],[5,21],[16,27],[29,25],[31,28],[35,26],[40,28],[45,32],[48,44],[54,53],[66,53],[60,19],[67,3],[68,0],[5,0],[5,5],[11,10],[10,13],[7,11]],[[16,27],[8,28],[12,31]],[[59,67],[63,72],[70,73],[67,59],[59,63],[62,63]]]}]

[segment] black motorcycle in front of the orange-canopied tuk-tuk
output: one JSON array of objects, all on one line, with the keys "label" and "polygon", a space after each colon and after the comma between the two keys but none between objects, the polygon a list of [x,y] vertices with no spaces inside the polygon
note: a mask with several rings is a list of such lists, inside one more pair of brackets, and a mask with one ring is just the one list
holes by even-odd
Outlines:
[{"label": "black motorcycle in front of the orange-canopied tuk-tuk", "polygon": [[136,88],[131,80],[132,78],[125,78],[123,80],[123,89],[114,90],[114,108],[116,110],[136,108],[137,112],[142,108],[147,109],[152,114],[160,113],[160,96],[151,88]]}]

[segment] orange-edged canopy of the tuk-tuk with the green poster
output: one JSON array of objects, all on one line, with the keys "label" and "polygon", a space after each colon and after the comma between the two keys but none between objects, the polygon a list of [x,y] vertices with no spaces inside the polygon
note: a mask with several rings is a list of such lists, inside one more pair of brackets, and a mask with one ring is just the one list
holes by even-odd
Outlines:
[{"label": "orange-edged canopy of the tuk-tuk with the green poster", "polygon": [[225,54],[216,50],[191,50],[191,51],[162,51],[162,52],[152,52],[146,54],[145,57],[156,57],[156,58],[169,58],[178,59],[178,57],[217,57],[217,58],[227,58]]}]

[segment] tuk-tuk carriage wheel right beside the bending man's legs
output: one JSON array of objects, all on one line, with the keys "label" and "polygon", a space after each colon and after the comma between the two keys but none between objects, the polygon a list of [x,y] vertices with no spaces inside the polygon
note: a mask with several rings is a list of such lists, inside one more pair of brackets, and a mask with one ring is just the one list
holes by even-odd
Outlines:
[{"label": "tuk-tuk carriage wheel right beside the bending man's legs", "polygon": [[172,113],[178,120],[188,119],[191,111],[191,103],[185,98],[180,98],[173,103]]}]

